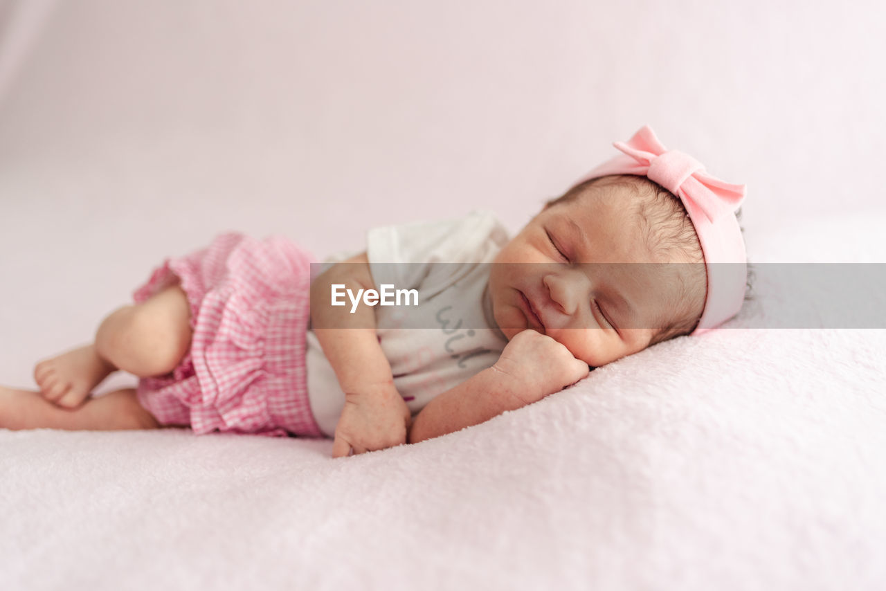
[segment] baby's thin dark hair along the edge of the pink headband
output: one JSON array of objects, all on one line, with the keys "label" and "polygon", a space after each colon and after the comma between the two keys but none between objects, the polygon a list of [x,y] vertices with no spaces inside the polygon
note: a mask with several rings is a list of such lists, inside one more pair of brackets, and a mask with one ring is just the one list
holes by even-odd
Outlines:
[{"label": "baby's thin dark hair along the edge of the pink headband", "polygon": [[[549,199],[548,206],[558,203],[568,203],[591,187],[622,187],[633,192],[636,196],[631,202],[633,213],[637,214],[646,246],[651,253],[669,255],[677,253],[682,255],[691,268],[692,273],[688,283],[680,285],[681,292],[678,301],[670,302],[667,309],[676,310],[677,314],[670,318],[659,318],[657,326],[661,328],[649,342],[649,346],[655,345],[669,338],[687,335],[695,330],[698,321],[701,320],[703,299],[701,302],[689,297],[692,293],[706,293],[707,276],[704,267],[704,255],[702,245],[698,241],[695,226],[689,219],[689,214],[682,201],[671,191],[668,191],[655,181],[646,176],[639,175],[608,175],[600,176],[572,187],[558,198]],[[741,220],[741,209],[736,216]],[[741,229],[741,226],[739,226]],[[744,229],[742,229],[742,233]],[[748,268],[748,290],[745,299],[752,299],[750,284],[752,269]]]}]

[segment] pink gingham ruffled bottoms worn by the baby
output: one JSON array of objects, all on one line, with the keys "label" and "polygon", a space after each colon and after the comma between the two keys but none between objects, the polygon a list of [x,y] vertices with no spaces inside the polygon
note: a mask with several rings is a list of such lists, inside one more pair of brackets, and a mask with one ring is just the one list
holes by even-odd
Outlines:
[{"label": "pink gingham ruffled bottoms worn by the baby", "polygon": [[305,373],[311,262],[282,237],[238,233],[164,261],[133,297],[180,284],[193,338],[172,372],[139,380],[139,403],[160,424],[195,433],[323,437]]}]

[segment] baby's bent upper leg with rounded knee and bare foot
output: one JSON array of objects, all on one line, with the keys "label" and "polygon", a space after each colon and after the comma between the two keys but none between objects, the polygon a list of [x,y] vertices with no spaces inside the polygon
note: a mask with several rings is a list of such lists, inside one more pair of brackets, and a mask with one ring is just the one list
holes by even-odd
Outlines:
[{"label": "baby's bent upper leg with rounded knee and bare foot", "polygon": [[37,363],[34,377],[46,400],[79,406],[111,372],[137,377],[166,374],[190,347],[190,307],[173,285],[141,304],[121,307],[98,327],[94,344]]}]

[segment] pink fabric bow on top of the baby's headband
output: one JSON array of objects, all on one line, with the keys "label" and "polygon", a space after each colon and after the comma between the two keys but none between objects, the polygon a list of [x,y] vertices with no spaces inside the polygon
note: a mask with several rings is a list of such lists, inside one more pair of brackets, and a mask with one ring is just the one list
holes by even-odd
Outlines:
[{"label": "pink fabric bow on top of the baby's headband", "polygon": [[725,183],[704,171],[701,162],[679,150],[668,150],[658,141],[648,125],[643,126],[627,142],[615,142],[618,150],[636,160],[635,171],[627,174],[646,175],[683,200],[689,214],[701,210],[714,222],[724,214],[732,214],[742,204],[745,185]]}]

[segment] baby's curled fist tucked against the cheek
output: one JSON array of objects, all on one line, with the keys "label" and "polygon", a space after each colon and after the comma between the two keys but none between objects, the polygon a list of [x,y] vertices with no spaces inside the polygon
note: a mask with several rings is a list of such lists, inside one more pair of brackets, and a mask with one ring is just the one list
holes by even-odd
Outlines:
[{"label": "baby's curled fist tucked against the cheek", "polygon": [[525,404],[559,392],[590,372],[586,362],[536,330],[522,330],[511,338],[493,369]]}]

